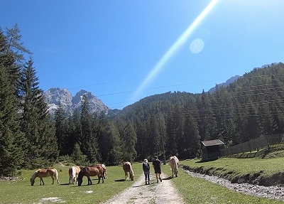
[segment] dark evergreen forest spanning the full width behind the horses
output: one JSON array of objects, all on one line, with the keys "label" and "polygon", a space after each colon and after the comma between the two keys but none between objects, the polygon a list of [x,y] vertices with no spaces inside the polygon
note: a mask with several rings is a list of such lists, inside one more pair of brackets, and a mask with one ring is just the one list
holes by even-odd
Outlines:
[{"label": "dark evergreen forest spanning the full width behind the horses", "polygon": [[87,166],[195,158],[201,141],[221,139],[226,148],[284,133],[283,63],[254,68],[212,94],[166,92],[111,116],[90,114],[83,97],[75,114],[66,117],[59,105],[54,119],[33,63],[18,26],[0,28],[0,176],[62,160]]}]

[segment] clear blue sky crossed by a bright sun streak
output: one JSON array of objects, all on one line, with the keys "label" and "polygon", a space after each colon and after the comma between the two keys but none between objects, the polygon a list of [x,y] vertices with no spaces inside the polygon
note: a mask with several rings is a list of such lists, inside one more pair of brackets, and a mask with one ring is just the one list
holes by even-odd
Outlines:
[{"label": "clear blue sky crossed by a bright sun streak", "polygon": [[1,0],[0,26],[18,23],[41,89],[87,90],[122,109],[283,62],[283,8],[283,0]]}]

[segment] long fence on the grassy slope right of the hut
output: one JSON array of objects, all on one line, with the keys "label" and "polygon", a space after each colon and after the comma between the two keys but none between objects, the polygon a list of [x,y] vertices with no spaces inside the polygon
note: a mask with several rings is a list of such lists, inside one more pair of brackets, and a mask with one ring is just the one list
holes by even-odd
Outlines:
[{"label": "long fence on the grassy slope right of the hut", "polygon": [[234,154],[243,154],[261,149],[271,149],[284,146],[284,134],[273,134],[258,137],[246,141],[242,144],[237,144],[226,149],[221,149],[221,156],[229,156]]}]

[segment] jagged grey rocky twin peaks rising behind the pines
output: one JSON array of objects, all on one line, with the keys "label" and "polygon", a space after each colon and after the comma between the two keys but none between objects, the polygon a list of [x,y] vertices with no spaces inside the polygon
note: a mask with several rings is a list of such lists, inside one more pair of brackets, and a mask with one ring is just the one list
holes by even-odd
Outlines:
[{"label": "jagged grey rocky twin peaks rising behind the pines", "polygon": [[59,104],[62,105],[67,115],[72,115],[76,109],[80,109],[83,95],[87,96],[91,113],[106,112],[107,114],[109,112],[109,107],[107,107],[102,100],[99,100],[95,95],[86,90],[80,90],[80,92],[77,92],[73,97],[71,92],[65,88],[50,88],[44,95],[46,102],[48,102],[48,111],[51,115],[55,114],[55,110]]}]

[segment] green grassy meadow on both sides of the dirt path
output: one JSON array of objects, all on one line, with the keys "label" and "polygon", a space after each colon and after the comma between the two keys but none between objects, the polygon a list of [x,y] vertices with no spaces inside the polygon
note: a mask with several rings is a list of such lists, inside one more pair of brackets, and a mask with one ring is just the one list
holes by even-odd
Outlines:
[{"label": "green grassy meadow on both sides of the dirt path", "polygon": [[[263,172],[265,175],[283,171],[284,157],[269,159],[218,159],[204,163],[198,160],[180,161],[187,166],[202,166],[215,173],[231,172],[235,174],[247,174]],[[83,178],[82,186],[69,183],[68,168],[60,165],[54,166],[58,169],[60,185],[51,185],[51,178],[43,178],[45,186],[39,186],[39,178],[35,179],[35,185],[31,186],[30,178],[34,171],[22,170],[21,180],[0,182],[0,203],[47,203],[42,199],[55,199],[53,203],[100,203],[120,193],[135,182],[143,173],[141,163],[133,163],[135,173],[134,181],[124,181],[122,166],[108,166],[105,182],[97,184],[97,177],[92,178],[93,185],[87,186],[87,178]],[[233,172],[233,173],[232,173]],[[162,166],[163,177],[170,176],[170,166]],[[151,168],[153,178],[153,168]],[[223,186],[219,186],[202,178],[192,178],[185,171],[179,171],[178,178],[172,178],[173,185],[178,189],[185,203],[283,203],[280,200],[258,198],[251,195],[237,193]],[[151,188],[151,186],[149,186]],[[167,195],[165,195],[167,196]],[[51,201],[50,201],[51,203]]]}]

